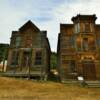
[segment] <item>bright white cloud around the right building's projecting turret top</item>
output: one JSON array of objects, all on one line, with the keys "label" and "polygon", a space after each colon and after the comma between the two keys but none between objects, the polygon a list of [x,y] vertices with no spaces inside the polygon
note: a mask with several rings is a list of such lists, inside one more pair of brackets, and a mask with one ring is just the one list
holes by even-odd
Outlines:
[{"label": "bright white cloud around the right building's projecting turret top", "polygon": [[[100,1],[99,0],[69,0],[59,5],[54,10],[54,16],[59,22],[72,23],[71,18],[77,14],[96,14],[100,16]],[[72,2],[74,1],[74,2]],[[100,22],[99,19],[97,22]]]}]

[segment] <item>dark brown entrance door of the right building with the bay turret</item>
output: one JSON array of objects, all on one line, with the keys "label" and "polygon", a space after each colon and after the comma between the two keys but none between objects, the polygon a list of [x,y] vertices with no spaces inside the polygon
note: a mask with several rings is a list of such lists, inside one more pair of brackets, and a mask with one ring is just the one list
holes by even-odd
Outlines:
[{"label": "dark brown entrance door of the right building with the bay turret", "polygon": [[86,80],[96,80],[95,64],[93,61],[83,62],[83,76]]}]

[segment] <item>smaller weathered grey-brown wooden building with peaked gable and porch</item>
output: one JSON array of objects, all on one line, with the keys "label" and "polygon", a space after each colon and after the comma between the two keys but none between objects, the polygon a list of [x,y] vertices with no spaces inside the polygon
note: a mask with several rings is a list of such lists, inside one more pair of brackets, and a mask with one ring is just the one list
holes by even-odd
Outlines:
[{"label": "smaller weathered grey-brown wooden building with peaked gable and porch", "polygon": [[12,76],[46,78],[50,72],[50,52],[47,31],[28,21],[18,31],[12,31],[6,71]]}]

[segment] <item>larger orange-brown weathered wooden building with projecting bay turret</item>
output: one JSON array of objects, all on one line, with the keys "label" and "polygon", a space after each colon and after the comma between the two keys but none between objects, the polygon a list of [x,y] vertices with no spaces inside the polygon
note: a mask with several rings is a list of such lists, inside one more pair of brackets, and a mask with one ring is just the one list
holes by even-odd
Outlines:
[{"label": "larger orange-brown weathered wooden building with projecting bay turret", "polygon": [[61,81],[100,80],[100,25],[96,15],[77,15],[73,24],[60,24],[58,71]]}]

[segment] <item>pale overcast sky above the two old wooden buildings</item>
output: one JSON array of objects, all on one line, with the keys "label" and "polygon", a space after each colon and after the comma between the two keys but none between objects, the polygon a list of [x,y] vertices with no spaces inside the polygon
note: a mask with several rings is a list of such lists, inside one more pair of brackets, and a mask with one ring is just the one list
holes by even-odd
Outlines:
[{"label": "pale overcast sky above the two old wooden buildings", "polygon": [[0,0],[0,43],[10,43],[12,30],[31,20],[48,31],[52,51],[56,51],[60,23],[72,23],[77,14],[96,14],[100,23],[100,0]]}]

